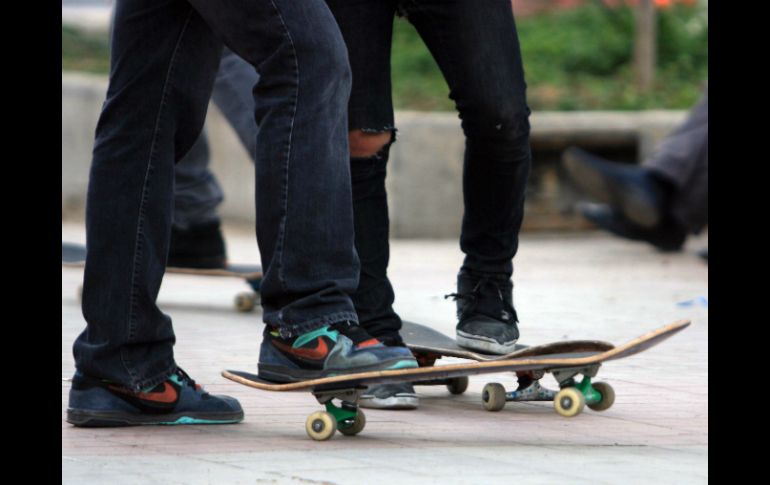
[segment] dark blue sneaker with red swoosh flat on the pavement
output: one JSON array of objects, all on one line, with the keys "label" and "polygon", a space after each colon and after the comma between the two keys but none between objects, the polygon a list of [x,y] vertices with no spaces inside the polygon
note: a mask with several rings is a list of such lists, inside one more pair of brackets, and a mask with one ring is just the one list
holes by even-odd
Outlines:
[{"label": "dark blue sneaker with red swoosh flat on the pavement", "polygon": [[157,386],[140,392],[76,372],[67,408],[67,422],[82,427],[242,420],[243,409],[237,400],[207,393],[179,368]]}]

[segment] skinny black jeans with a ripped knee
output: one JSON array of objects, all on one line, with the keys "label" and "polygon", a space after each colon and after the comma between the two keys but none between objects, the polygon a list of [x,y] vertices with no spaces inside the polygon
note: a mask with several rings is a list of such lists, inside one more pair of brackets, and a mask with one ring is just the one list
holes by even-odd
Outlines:
[{"label": "skinny black jeans with a ripped knee", "polygon": [[[513,273],[531,166],[526,85],[509,0],[327,0],[353,72],[350,130],[395,132],[390,81],[393,20],[404,15],[441,69],[466,137],[460,247],[464,269]],[[388,148],[351,160],[361,281],[353,296],[361,324],[398,342],[387,277]],[[414,163],[419,163],[415,160]],[[430,190],[430,187],[426,187]]]}]

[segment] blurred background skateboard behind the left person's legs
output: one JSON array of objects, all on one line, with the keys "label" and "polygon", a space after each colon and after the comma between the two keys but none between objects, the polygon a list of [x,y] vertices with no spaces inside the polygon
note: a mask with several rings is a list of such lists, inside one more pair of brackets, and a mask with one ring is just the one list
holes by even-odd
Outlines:
[{"label": "blurred background skateboard behind the left person's legs", "polygon": [[[62,266],[82,268],[86,261],[86,247],[82,244],[61,243]],[[169,266],[166,273],[186,274],[196,276],[216,276],[224,278],[240,278],[251,287],[252,291],[238,293],[235,296],[235,308],[241,312],[250,312],[259,303],[259,289],[262,284],[262,267],[256,264],[228,264],[221,269],[179,268]],[[78,289],[78,296],[82,287]]]}]

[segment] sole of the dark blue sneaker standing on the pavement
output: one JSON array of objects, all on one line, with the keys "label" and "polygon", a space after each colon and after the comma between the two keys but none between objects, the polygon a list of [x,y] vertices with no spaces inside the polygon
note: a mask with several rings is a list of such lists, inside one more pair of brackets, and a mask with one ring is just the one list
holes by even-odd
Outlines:
[{"label": "sole of the dark blue sneaker standing on the pavement", "polygon": [[120,426],[235,424],[243,421],[243,411],[234,413],[129,414],[115,411],[67,409],[67,422],[81,428],[114,428]]}]

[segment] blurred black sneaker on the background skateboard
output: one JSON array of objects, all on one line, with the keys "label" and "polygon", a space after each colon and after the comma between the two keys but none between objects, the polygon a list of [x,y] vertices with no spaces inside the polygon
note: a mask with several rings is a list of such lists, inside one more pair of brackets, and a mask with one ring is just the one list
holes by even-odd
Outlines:
[{"label": "blurred black sneaker on the background skateboard", "polygon": [[219,221],[171,228],[168,266],[176,268],[217,269],[227,264],[225,241]]}]

